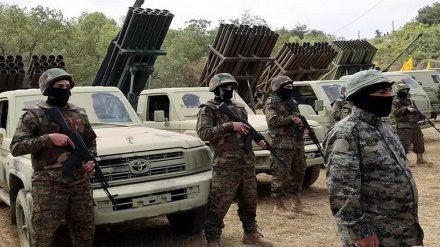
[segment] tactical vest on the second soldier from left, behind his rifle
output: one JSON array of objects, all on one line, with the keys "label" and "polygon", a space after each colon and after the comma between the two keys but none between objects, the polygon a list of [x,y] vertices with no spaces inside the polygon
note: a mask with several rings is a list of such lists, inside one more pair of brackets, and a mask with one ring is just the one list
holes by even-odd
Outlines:
[{"label": "tactical vest on the second soldier from left, behind his rifle", "polygon": [[[217,110],[217,107],[220,105],[221,102],[216,100],[209,100],[205,104],[200,105],[200,107],[207,106],[214,112],[214,125],[220,125],[222,123],[231,122],[233,121],[230,119],[226,114],[222,113],[221,111]],[[232,104],[228,104],[228,107],[240,118],[247,120],[247,112],[246,109],[237,104],[236,102],[233,102]],[[211,146],[211,149],[214,151],[214,153],[220,153],[225,151],[232,151],[232,150],[243,150],[244,149],[244,135],[241,135],[240,133],[234,131],[226,133],[219,138],[216,138],[214,140],[209,141],[209,145]]]}]

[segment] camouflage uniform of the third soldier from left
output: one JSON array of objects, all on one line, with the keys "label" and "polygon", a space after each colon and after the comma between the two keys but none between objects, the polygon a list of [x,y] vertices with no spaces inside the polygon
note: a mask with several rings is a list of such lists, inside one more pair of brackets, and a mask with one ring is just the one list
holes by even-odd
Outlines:
[{"label": "camouflage uniform of the third soldier from left", "polygon": [[[296,106],[296,103],[292,105]],[[304,130],[301,126],[293,125],[293,118],[300,115],[299,110],[297,107],[290,109],[285,100],[272,94],[266,100],[263,111],[266,115],[272,146],[278,152],[278,156],[288,165],[286,167],[271,157],[271,196],[280,197],[285,187],[292,194],[301,193],[307,164],[304,140],[296,139],[297,132]]]}]

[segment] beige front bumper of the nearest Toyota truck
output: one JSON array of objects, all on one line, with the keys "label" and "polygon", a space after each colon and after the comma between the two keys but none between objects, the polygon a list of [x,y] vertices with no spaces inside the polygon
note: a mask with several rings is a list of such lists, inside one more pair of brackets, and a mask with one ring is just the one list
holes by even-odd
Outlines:
[{"label": "beige front bumper of the nearest Toyota truck", "polygon": [[202,207],[208,203],[212,172],[205,171],[183,177],[110,187],[118,208],[105,192],[93,190],[95,225],[167,215]]}]

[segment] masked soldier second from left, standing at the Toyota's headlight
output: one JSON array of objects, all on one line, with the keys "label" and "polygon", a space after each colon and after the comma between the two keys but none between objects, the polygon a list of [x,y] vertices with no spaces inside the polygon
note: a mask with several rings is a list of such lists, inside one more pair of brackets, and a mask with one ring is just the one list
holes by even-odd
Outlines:
[{"label": "masked soldier second from left, standing at the Toyota's headlight", "polygon": [[[197,134],[214,152],[212,185],[209,195],[208,219],[205,237],[208,246],[220,246],[224,227],[223,218],[234,199],[238,197],[238,216],[243,224],[242,242],[257,246],[273,246],[273,243],[257,231],[257,179],[255,176],[255,155],[244,150],[244,138],[249,126],[233,122],[217,107],[224,102],[237,116],[247,120],[243,105],[231,100],[238,86],[235,78],[227,73],[215,75],[209,82],[209,91],[215,98],[200,106],[197,119]],[[258,143],[264,148],[266,143]]]}]

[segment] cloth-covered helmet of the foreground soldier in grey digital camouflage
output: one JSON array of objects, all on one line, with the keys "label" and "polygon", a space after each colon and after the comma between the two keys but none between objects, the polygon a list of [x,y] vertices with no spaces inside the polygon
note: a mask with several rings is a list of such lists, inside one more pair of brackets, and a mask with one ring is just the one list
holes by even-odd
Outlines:
[{"label": "cloth-covered helmet of the foreground soldier in grey digital camouflage", "polygon": [[346,86],[346,99],[352,100],[351,97],[364,89],[376,85],[379,83],[388,82],[390,86],[393,84],[393,82],[386,78],[382,72],[370,69],[370,70],[363,70],[359,71],[352,76],[350,76],[347,79],[347,86]]}]

